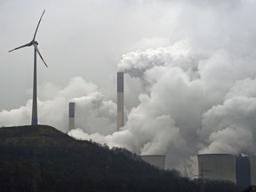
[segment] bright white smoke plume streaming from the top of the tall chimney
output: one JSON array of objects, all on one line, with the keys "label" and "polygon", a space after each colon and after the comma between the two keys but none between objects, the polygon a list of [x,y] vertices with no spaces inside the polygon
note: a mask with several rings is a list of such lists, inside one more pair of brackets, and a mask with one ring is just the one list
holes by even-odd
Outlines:
[{"label": "bright white smoke plume streaming from the top of the tall chimney", "polygon": [[[129,73],[130,76],[142,76],[148,68],[156,66],[179,66],[184,70],[196,70],[196,53],[190,50],[187,40],[181,40],[168,47],[160,47],[156,50],[148,49],[146,51],[130,52],[123,55],[118,63],[119,71]],[[203,54],[200,56],[204,56]],[[189,64],[188,64],[189,63]]]}]

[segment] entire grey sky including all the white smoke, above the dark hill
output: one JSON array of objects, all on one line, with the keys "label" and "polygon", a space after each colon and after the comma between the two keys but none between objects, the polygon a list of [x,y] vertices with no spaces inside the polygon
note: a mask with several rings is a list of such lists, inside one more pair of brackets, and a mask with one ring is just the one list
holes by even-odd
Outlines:
[{"label": "entire grey sky including all the white smoke, above the dark hill", "polygon": [[[34,7],[34,8],[32,8]],[[166,155],[196,174],[196,154],[256,152],[256,2],[2,1],[0,125],[30,124],[36,22],[40,124],[76,138]],[[25,12],[26,11],[26,12]],[[125,125],[116,131],[116,72]],[[27,101],[28,100],[28,101]]]}]

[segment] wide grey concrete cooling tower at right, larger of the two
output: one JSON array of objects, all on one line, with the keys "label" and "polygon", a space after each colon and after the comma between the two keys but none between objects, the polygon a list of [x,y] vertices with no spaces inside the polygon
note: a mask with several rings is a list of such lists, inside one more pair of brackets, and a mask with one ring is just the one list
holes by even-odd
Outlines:
[{"label": "wide grey concrete cooling tower at right, larger of the two", "polygon": [[229,180],[236,183],[236,156],[229,154],[197,155],[198,174],[202,179]]}]

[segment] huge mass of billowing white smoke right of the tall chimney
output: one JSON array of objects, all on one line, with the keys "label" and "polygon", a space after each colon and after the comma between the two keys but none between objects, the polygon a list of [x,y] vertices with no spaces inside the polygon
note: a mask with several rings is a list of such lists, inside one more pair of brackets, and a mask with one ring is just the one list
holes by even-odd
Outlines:
[{"label": "huge mass of billowing white smoke right of the tall chimney", "polygon": [[253,63],[224,49],[200,52],[187,40],[125,54],[119,70],[145,84],[138,106],[129,111],[123,132],[82,137],[167,155],[167,166],[180,170],[193,170],[197,153],[253,154],[256,71],[244,68],[244,60]]}]

